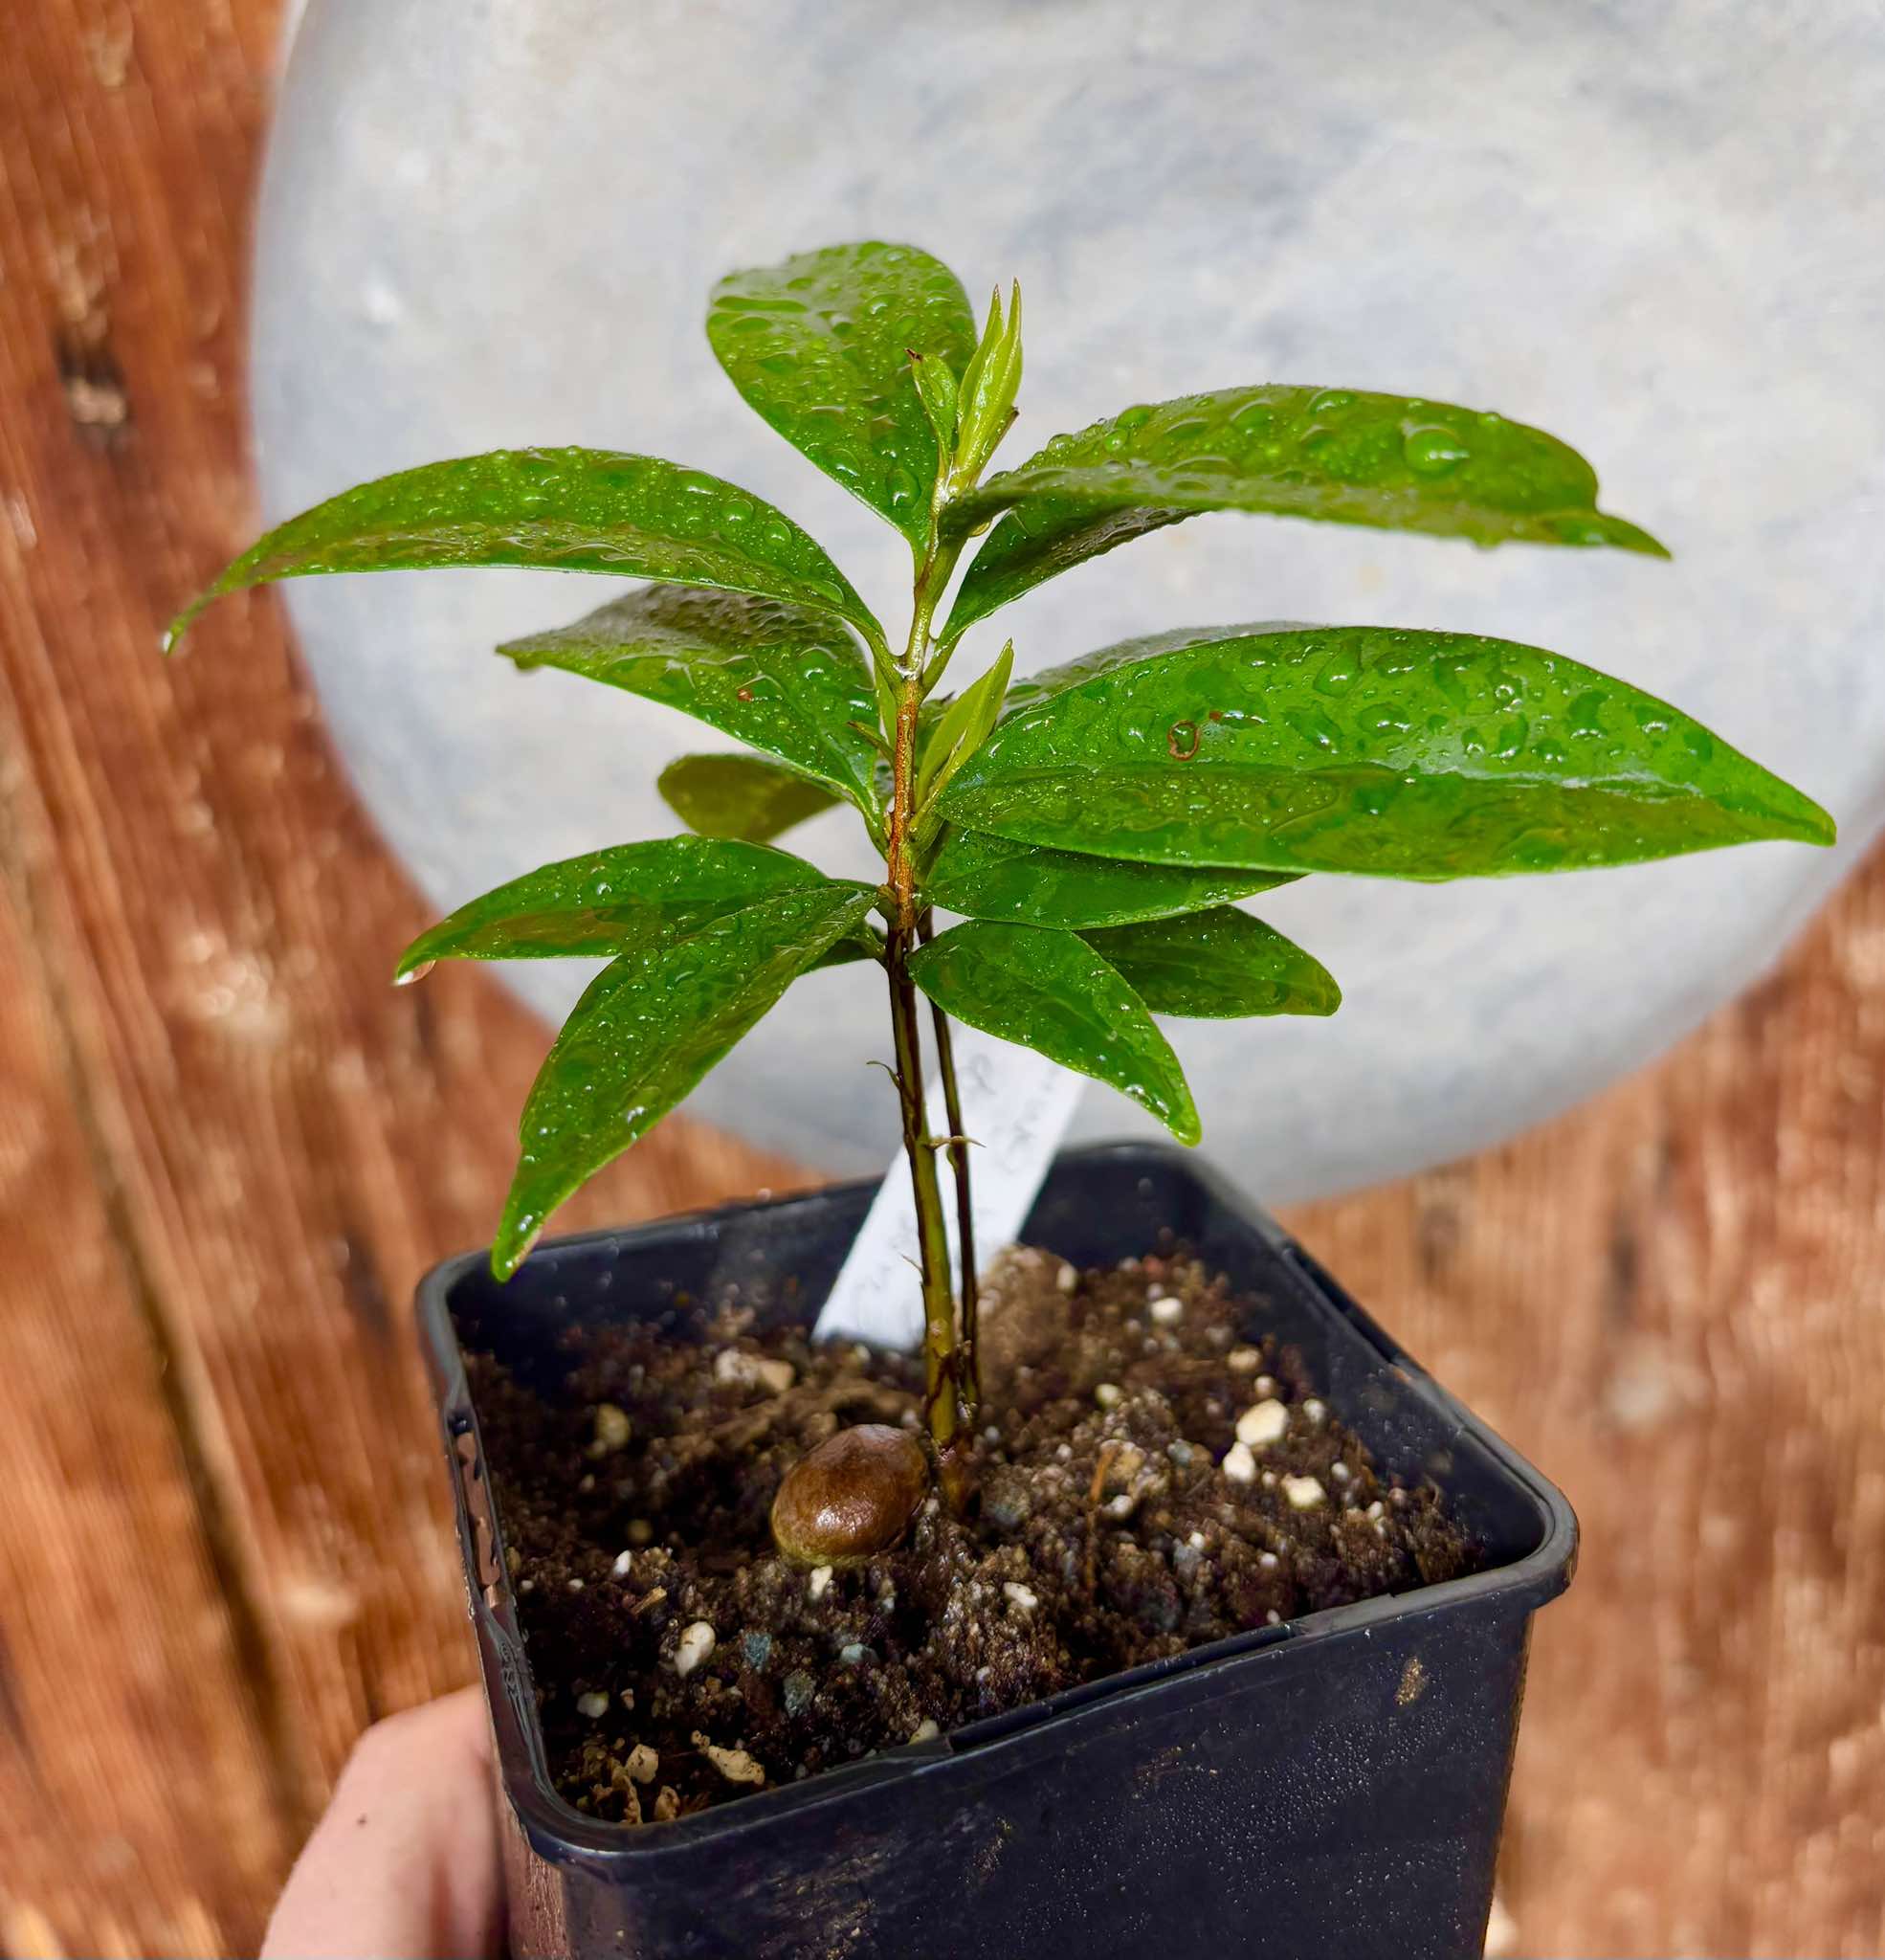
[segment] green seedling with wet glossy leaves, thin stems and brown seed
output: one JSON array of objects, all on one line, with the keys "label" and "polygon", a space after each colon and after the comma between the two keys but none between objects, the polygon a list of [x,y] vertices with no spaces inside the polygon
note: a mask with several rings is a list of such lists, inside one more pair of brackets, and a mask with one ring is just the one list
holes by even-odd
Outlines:
[{"label": "green seedling with wet glossy leaves, thin stems and brown seed", "polygon": [[[398,966],[607,960],[531,1088],[492,1268],[508,1278],[551,1213],[794,980],[876,960],[919,1233],[921,1468],[952,1503],[974,1482],[980,1376],[950,1019],[1109,1084],[1195,1143],[1162,1015],[1325,1015],[1340,1000],[1244,900],[1307,874],[1493,878],[1834,839],[1824,809],[1679,710],[1517,641],[1187,627],[1023,678],[1013,645],[980,672],[958,651],[1044,580],[1199,512],[1666,557],[1597,508],[1591,466],[1540,429],[1419,396],[1254,384],[1125,408],[990,474],[1017,416],[1019,286],[995,292],[978,331],[954,272],[911,245],[735,272],[713,292],[707,339],[758,416],[907,541],[897,631],[735,484],[656,457],[519,449],[404,470],[294,517],[210,586],[172,643],[218,594],[314,572],[527,564],[645,580],[498,651],[682,708],[741,753],[662,772],[688,835],[525,872]],[[1252,610],[1287,612],[1287,594]],[[880,853],[876,884],[774,847],[833,804]],[[950,1135],[933,1135],[923,1107],[931,1051]],[[846,1435],[848,1470],[799,1466],[813,1474],[782,1531],[801,1564],[888,1543],[927,1482],[894,1431]],[[856,1478],[874,1480],[862,1511]]]}]

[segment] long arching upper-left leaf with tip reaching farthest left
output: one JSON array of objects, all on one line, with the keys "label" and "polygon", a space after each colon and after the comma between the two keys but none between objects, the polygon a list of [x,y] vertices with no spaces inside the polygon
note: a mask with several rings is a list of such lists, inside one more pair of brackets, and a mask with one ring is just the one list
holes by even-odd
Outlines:
[{"label": "long arching upper-left leaf with tip reaching farthest left", "polygon": [[251,545],[170,625],[174,647],[216,598],[315,572],[531,564],[670,578],[809,606],[884,629],[845,574],[770,504],[658,457],[494,449],[343,490]]}]

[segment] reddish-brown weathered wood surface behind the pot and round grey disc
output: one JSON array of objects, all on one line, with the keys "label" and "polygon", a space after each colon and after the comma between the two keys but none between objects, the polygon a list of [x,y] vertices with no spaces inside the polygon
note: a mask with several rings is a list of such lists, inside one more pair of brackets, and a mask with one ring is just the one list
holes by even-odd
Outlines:
[{"label": "reddish-brown weathered wood surface behind the pot and round grey disc", "polygon": [[[276,0],[0,37],[0,1952],[253,1946],[351,1737],[466,1678],[408,1327],[543,1033],[421,923],[268,598]],[[1650,1076],[1293,1223],[1583,1515],[1505,1952],[1885,1950],[1885,860]],[[578,1207],[784,1182],[674,1125]],[[466,1801],[478,1801],[468,1793]]]}]

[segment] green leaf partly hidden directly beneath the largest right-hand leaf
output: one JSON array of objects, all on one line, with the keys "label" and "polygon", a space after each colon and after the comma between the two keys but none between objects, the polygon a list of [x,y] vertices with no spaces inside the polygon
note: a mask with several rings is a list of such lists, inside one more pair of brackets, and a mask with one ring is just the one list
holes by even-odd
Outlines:
[{"label": "green leaf partly hidden directly beneath the largest right-hand leaf", "polygon": [[1293,882],[1289,872],[1127,864],[986,831],[950,831],[923,878],[923,902],[970,919],[1074,931],[1201,911]]}]

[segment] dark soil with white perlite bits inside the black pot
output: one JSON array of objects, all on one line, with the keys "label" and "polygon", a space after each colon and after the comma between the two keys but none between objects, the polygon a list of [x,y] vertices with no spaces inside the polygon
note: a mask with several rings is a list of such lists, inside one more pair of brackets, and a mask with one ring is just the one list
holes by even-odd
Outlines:
[{"label": "dark soil with white perlite bits inside the black pot", "polygon": [[1438,1494],[1379,1476],[1248,1321],[1182,1256],[1007,1254],[978,1513],[931,1497],[897,1550],[809,1576],[772,1550],[778,1482],[845,1423],[915,1425],[907,1358],[739,1309],[700,1347],[572,1331],[556,1399],[468,1354],[556,1788],[664,1819],[1472,1570]]}]

